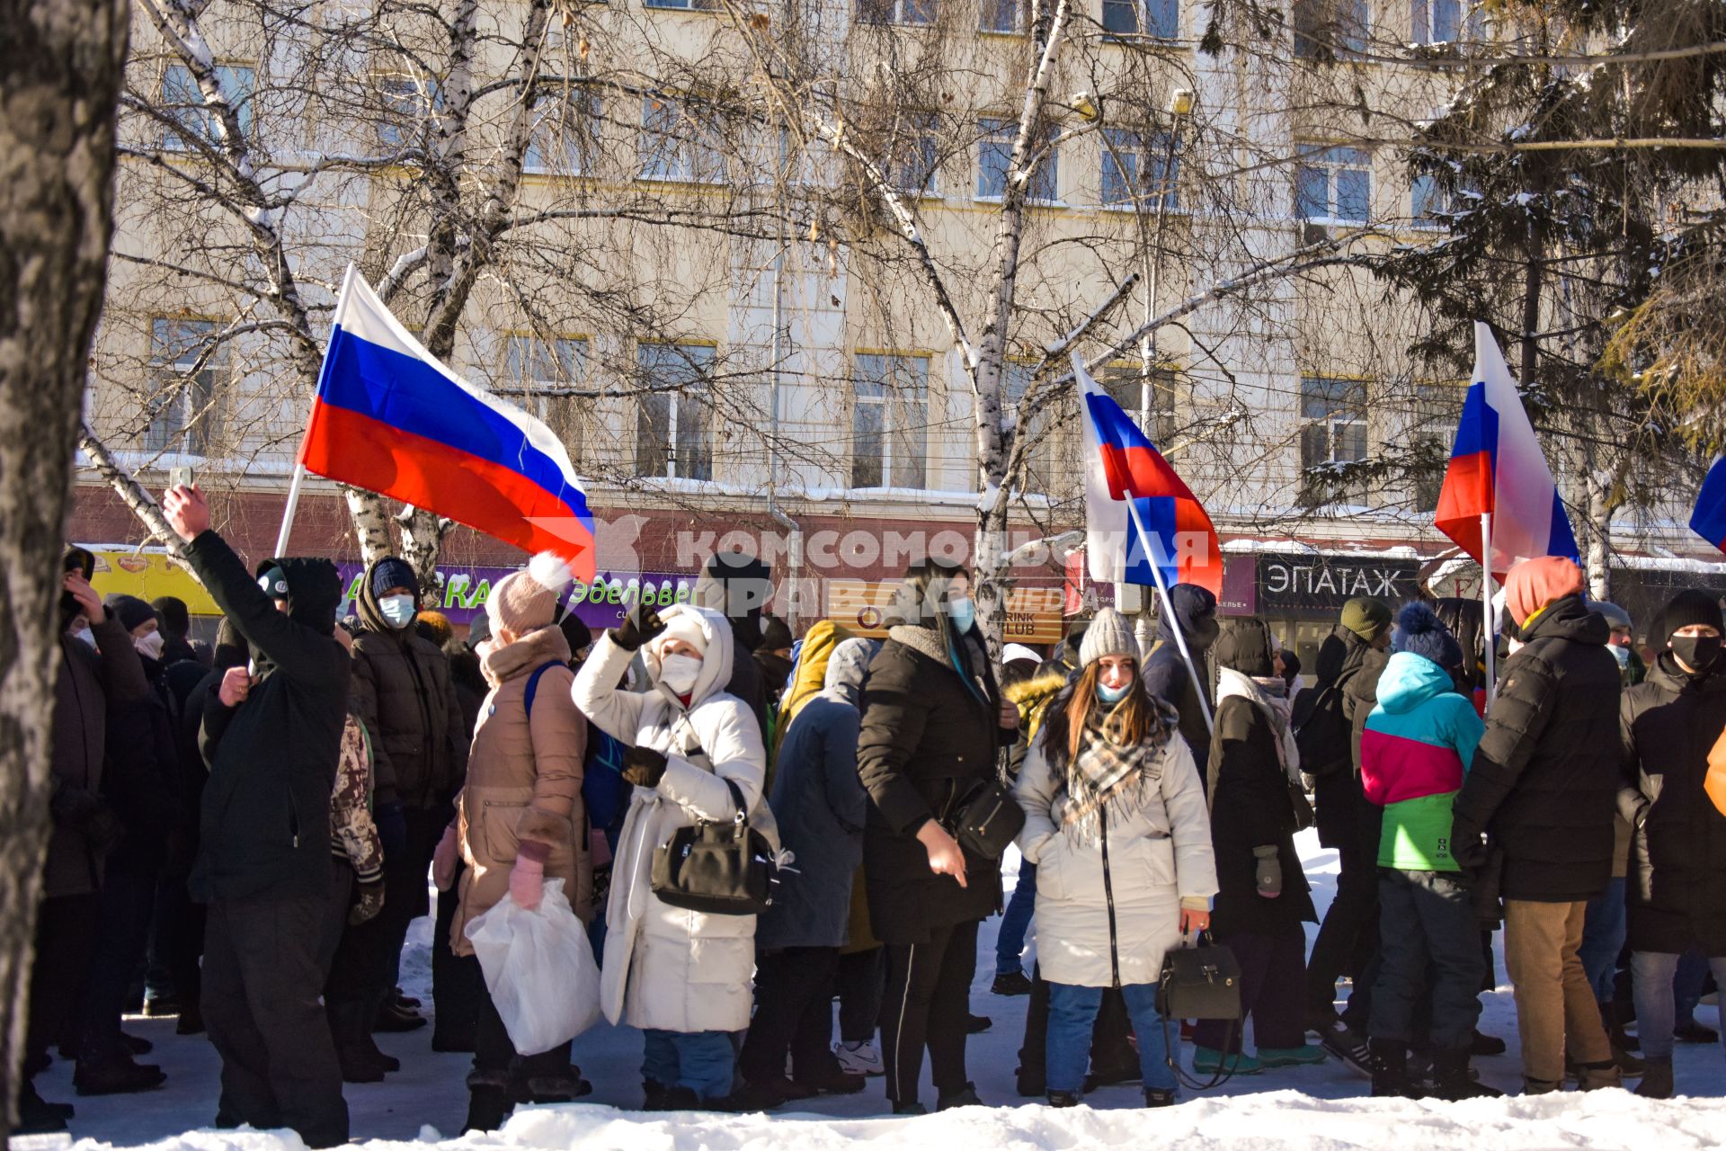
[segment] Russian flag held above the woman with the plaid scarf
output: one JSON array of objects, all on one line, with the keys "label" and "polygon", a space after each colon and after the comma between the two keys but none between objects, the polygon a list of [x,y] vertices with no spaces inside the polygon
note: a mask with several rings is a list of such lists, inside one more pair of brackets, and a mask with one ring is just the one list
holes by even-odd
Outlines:
[{"label": "Russian flag held above the woman with the plaid scarf", "polygon": [[1084,414],[1086,556],[1093,580],[1196,583],[1222,595],[1222,547],[1205,506],[1074,355]]}]

